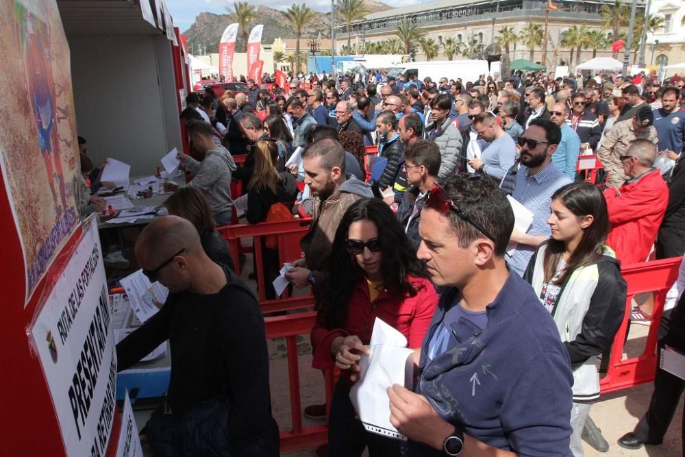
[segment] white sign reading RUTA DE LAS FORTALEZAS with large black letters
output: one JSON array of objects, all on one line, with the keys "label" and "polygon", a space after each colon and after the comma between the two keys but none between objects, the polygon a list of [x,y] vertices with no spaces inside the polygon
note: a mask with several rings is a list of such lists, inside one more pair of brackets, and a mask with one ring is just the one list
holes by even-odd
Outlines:
[{"label": "white sign reading RUTA DE LAS FORTALEZAS with large black letters", "polygon": [[105,455],[116,408],[107,280],[95,217],[88,221],[30,328],[66,455],[79,457]]}]

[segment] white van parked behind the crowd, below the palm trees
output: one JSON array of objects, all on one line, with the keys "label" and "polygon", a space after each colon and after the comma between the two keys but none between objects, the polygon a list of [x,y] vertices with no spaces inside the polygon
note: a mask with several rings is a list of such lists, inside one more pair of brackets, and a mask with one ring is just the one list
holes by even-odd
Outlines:
[{"label": "white van parked behind the crowd, below the palm trees", "polygon": [[434,82],[441,77],[447,79],[457,79],[460,77],[462,83],[475,82],[480,75],[490,75],[499,71],[499,62],[493,62],[492,69],[488,71],[488,62],[485,60],[434,60],[432,62],[409,62],[396,66],[388,72],[388,75],[397,77],[402,73],[406,80],[410,75],[416,75],[417,79],[430,77]]}]

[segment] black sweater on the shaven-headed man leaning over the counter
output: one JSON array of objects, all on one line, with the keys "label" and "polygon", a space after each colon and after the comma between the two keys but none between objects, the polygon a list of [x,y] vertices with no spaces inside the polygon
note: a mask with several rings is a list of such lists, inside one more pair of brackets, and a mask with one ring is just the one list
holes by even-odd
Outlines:
[{"label": "black sweater on the shaven-headed man leaning over the counter", "polygon": [[[170,293],[164,306],[138,330],[116,345],[117,369],[127,369],[169,339],[171,380],[168,403],[187,428],[198,424],[185,413],[219,397],[228,400],[230,455],[277,456],[278,426],[271,416],[269,355],[264,336],[264,317],[256,298],[232,271],[224,269],[227,284],[216,294],[188,291]],[[194,430],[187,430],[194,436]],[[203,436],[221,442],[225,432]],[[246,447],[259,443],[252,454]],[[183,443],[188,446],[188,443]],[[178,450],[178,449],[176,449]],[[201,452],[164,455],[206,455]],[[241,452],[242,451],[242,452]],[[254,453],[256,452],[256,454]]]}]

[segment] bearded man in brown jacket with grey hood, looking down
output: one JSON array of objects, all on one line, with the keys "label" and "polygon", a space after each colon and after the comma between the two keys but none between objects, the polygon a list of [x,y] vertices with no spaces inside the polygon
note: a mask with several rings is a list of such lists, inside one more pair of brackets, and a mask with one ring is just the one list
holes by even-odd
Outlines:
[{"label": "bearded man in brown jacket with grey hood, looking down", "polygon": [[304,182],[314,197],[312,225],[300,242],[305,256],[292,262],[286,280],[297,288],[312,286],[317,297],[340,219],[352,203],[373,197],[373,193],[364,182],[345,173],[345,150],[332,138],[308,145],[302,153],[302,165]]}]

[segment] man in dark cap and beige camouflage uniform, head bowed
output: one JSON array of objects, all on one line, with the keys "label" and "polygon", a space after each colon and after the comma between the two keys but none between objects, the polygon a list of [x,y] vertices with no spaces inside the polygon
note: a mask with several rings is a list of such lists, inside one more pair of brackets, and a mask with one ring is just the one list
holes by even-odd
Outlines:
[{"label": "man in dark cap and beige camouflage uniform, head bowed", "polygon": [[597,151],[597,157],[607,173],[607,185],[620,187],[627,176],[623,170],[621,156],[624,156],[634,140],[648,140],[658,143],[656,129],[653,127],[654,114],[649,105],[640,107],[633,119],[614,124],[604,137]]}]

